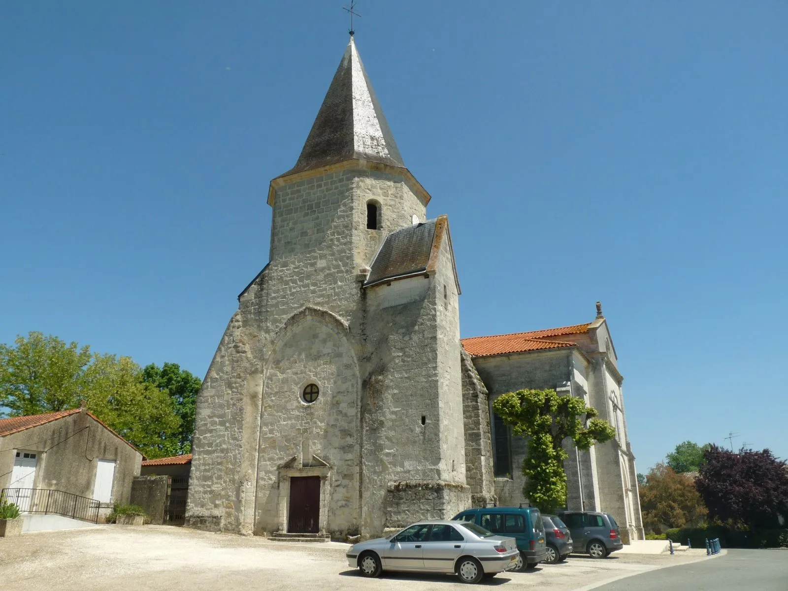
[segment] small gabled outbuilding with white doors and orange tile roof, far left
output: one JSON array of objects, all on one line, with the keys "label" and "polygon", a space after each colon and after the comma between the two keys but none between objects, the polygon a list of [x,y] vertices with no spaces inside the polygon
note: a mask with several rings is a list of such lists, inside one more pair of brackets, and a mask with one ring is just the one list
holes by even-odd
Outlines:
[{"label": "small gabled outbuilding with white doors and orange tile roof, far left", "polygon": [[142,460],[84,408],[0,419],[0,490],[25,513],[95,522],[128,503]]}]

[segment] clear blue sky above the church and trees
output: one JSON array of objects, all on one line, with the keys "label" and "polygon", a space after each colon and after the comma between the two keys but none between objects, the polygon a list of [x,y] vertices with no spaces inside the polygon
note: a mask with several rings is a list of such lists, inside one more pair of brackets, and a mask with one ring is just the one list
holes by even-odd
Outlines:
[{"label": "clear blue sky above the church and trees", "polygon": [[[731,430],[788,457],[788,4],[358,10],[449,216],[463,336],[589,322],[600,299],[639,470]],[[347,28],[340,2],[2,3],[0,342],[202,377]]]}]

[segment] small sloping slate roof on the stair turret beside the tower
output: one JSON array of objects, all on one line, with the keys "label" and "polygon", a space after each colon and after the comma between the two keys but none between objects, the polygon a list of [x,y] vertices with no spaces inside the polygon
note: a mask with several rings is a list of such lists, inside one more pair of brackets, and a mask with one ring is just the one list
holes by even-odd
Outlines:
[{"label": "small sloping slate roof on the stair turret beside the tower", "polygon": [[437,220],[429,220],[386,236],[372,262],[370,277],[364,286],[369,287],[397,277],[427,273],[436,225]]}]

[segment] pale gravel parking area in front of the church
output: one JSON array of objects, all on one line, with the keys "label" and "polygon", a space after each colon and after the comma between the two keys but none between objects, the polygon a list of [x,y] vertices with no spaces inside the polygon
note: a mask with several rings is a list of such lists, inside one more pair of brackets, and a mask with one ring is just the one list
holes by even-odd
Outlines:
[{"label": "pale gravel parking area in front of the church", "polygon": [[[448,575],[386,573],[366,579],[339,543],[298,544],[168,526],[98,526],[0,538],[0,589],[14,591],[257,591],[258,589],[469,589]],[[503,573],[479,585],[554,591],[590,589],[630,574],[705,560],[623,555],[572,556],[566,563]]]}]

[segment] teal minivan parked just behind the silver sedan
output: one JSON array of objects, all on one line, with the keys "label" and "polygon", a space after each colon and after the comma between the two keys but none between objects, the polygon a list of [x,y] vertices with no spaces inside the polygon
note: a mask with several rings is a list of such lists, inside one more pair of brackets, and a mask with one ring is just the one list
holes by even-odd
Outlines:
[{"label": "teal minivan parked just behind the silver sedan", "polygon": [[474,522],[492,533],[517,540],[520,556],[512,571],[533,568],[547,558],[545,526],[536,507],[485,507],[458,513],[455,521]]}]

